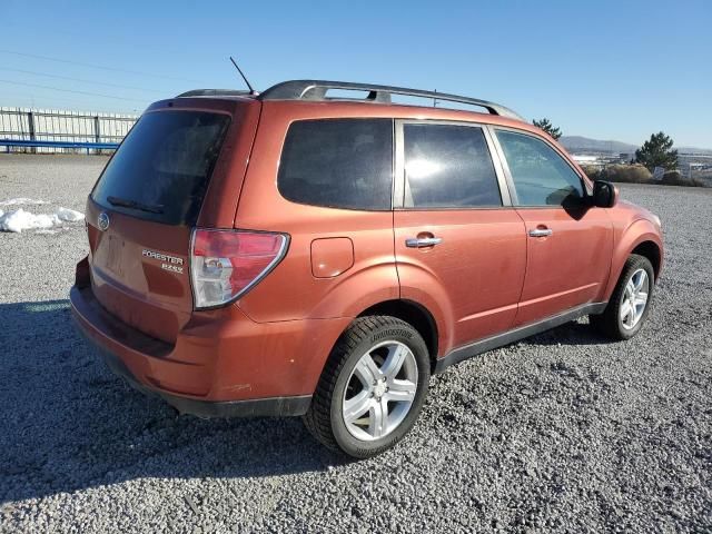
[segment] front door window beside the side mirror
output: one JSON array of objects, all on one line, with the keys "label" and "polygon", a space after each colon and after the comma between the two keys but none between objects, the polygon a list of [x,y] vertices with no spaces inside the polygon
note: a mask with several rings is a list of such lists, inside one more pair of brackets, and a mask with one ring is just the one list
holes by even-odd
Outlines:
[{"label": "front door window beside the side mirror", "polygon": [[581,178],[556,150],[524,134],[497,130],[520,206],[561,206],[583,197]]}]

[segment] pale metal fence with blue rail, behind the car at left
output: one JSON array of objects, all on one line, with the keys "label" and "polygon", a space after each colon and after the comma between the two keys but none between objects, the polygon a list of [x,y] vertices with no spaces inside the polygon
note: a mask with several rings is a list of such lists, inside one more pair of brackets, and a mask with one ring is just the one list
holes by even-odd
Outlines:
[{"label": "pale metal fence with blue rail, behind the car at left", "polygon": [[[48,141],[40,145],[65,144],[113,145],[121,142],[138,116],[120,113],[93,113],[82,111],[62,111],[30,108],[0,107],[0,146],[1,140]],[[58,146],[11,146],[4,150],[18,152],[78,152],[87,150],[92,154],[107,151],[106,148],[67,148]]]}]

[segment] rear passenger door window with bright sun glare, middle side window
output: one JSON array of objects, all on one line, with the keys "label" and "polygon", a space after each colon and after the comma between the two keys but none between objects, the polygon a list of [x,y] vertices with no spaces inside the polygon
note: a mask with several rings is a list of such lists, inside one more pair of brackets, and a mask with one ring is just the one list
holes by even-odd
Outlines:
[{"label": "rear passenger door window with bright sun glare, middle side window", "polygon": [[482,128],[404,125],[405,206],[502,206],[497,177]]}]

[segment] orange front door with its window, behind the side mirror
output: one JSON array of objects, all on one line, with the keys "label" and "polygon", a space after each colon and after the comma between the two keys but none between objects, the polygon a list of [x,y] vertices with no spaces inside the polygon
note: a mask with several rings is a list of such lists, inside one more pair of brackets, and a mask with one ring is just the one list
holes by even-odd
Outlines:
[{"label": "orange front door with its window, behind the side mirror", "polygon": [[585,200],[582,178],[548,142],[496,128],[513,204],[526,225],[527,267],[516,325],[596,299],[607,280],[611,220]]}]

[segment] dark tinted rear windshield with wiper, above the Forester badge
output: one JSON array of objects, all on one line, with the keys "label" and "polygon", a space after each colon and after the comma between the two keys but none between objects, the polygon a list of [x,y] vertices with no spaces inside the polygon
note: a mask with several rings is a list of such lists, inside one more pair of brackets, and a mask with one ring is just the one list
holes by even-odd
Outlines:
[{"label": "dark tinted rear windshield with wiper, above the Forester badge", "polygon": [[103,170],[92,199],[135,217],[195,225],[229,121],[202,111],[146,113]]}]

